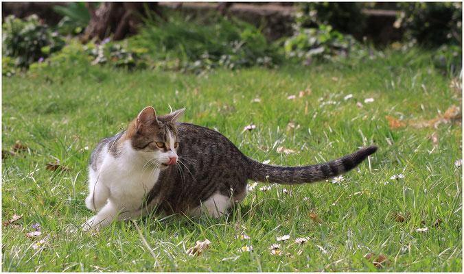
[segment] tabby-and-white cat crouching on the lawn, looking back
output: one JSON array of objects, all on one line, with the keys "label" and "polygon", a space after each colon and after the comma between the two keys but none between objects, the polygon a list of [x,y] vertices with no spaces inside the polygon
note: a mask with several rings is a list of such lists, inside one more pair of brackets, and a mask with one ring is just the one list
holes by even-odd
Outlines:
[{"label": "tabby-and-white cat crouching on the lawn, looking back", "polygon": [[185,108],[156,116],[144,108],[124,132],[105,138],[89,161],[84,230],[147,212],[222,216],[245,199],[248,179],[277,184],[321,181],[358,166],[378,147],[312,166],[272,166],[244,155],[219,132],[178,123]]}]

